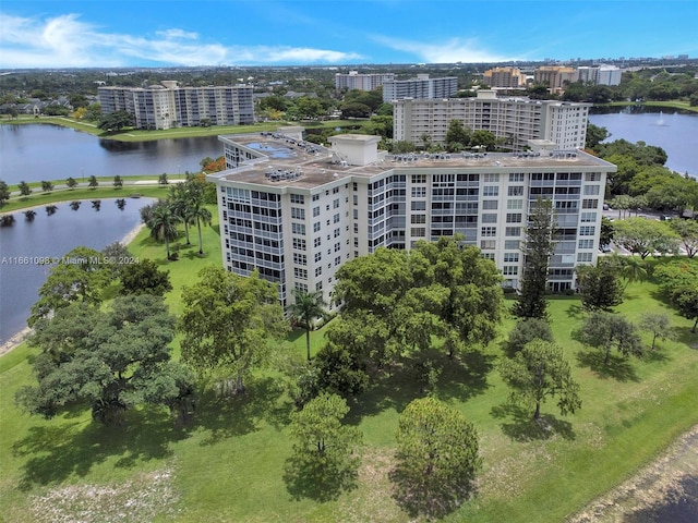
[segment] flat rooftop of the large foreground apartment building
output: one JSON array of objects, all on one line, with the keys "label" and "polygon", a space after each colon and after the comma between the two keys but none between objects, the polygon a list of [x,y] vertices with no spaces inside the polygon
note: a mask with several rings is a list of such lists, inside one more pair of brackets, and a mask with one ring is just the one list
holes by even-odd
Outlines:
[{"label": "flat rooftop of the large foreground apartment building", "polygon": [[[277,187],[312,188],[338,179],[373,177],[386,171],[411,173],[414,169],[453,169],[496,172],[501,168],[615,171],[615,166],[578,150],[541,153],[455,153],[404,155],[378,154],[368,166],[350,166],[337,153],[310,142],[289,138],[278,133],[253,133],[219,136],[222,143],[234,143],[263,155],[234,169],[209,174],[209,179]],[[466,171],[467,172],[467,171]]]}]

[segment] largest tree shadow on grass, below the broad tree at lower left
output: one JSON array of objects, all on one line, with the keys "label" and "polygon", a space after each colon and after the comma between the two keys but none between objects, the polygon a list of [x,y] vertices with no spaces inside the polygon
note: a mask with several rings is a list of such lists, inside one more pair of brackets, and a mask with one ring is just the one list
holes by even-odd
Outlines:
[{"label": "largest tree shadow on grass, below the broad tree at lower left", "polygon": [[120,457],[115,466],[130,469],[137,462],[172,455],[170,443],[189,436],[164,409],[127,411],[120,426],[98,422],[72,422],[29,427],[13,445],[13,453],[26,458],[20,489],[85,476],[94,465]]}]

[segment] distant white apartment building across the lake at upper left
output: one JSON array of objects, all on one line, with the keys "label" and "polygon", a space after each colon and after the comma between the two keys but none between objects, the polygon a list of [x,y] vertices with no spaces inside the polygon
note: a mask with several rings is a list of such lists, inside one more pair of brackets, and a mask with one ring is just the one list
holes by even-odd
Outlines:
[{"label": "distant white apartment building across the lake at upper left", "polygon": [[152,87],[99,87],[101,113],[125,110],[139,129],[254,123],[252,86],[179,87],[167,81]]}]

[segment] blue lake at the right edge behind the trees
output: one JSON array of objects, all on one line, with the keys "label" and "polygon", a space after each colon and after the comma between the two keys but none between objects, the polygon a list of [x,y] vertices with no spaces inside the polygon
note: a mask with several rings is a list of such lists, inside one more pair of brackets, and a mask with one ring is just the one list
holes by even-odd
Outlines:
[{"label": "blue lake at the right edge behind the trees", "polygon": [[[669,159],[666,167],[681,174],[698,177],[698,113],[660,110],[653,107],[625,109],[593,109],[589,121],[606,127],[611,136],[606,142],[627,139],[645,142],[663,148]],[[603,113],[600,113],[603,111]]]}]

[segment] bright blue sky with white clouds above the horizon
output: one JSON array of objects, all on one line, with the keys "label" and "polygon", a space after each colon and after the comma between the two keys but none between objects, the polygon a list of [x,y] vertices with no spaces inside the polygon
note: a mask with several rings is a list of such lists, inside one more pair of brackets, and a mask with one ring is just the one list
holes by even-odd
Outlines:
[{"label": "bright blue sky with white clouds above the horizon", "polygon": [[698,0],[2,0],[0,69],[698,58]]}]

